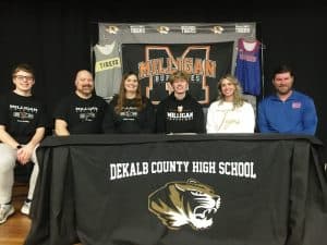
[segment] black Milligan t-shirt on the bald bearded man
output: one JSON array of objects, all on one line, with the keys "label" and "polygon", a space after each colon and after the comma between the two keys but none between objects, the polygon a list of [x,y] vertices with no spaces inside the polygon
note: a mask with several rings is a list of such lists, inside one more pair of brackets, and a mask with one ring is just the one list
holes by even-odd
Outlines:
[{"label": "black Milligan t-shirt on the bald bearded man", "polygon": [[53,118],[65,121],[70,134],[99,134],[107,106],[99,96],[83,99],[73,94],[59,102]]}]

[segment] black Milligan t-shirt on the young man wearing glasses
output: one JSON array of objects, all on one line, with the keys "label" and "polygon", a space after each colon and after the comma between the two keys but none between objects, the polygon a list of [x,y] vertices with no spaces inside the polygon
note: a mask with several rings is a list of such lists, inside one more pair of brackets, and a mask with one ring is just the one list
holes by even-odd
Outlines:
[{"label": "black Milligan t-shirt on the young man wearing glasses", "polygon": [[20,144],[27,144],[36,128],[47,126],[45,106],[34,96],[11,91],[0,97],[0,125]]}]

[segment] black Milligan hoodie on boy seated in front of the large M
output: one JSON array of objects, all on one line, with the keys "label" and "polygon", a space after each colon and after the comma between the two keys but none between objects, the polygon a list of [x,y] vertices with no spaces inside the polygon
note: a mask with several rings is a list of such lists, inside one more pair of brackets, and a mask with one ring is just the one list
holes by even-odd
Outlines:
[{"label": "black Milligan hoodie on boy seated in front of the large M", "polygon": [[157,133],[204,133],[202,106],[191,95],[168,96],[157,107]]}]

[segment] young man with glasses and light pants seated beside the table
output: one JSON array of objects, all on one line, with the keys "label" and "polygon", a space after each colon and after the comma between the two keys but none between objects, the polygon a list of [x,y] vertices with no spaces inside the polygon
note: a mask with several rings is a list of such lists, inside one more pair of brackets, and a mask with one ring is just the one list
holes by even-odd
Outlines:
[{"label": "young man with glasses and light pants seated beside the table", "polygon": [[27,199],[21,209],[29,215],[38,175],[36,148],[45,136],[45,107],[32,95],[34,71],[19,64],[12,72],[14,90],[0,97],[0,224],[14,213],[11,204],[15,163],[34,162]]}]

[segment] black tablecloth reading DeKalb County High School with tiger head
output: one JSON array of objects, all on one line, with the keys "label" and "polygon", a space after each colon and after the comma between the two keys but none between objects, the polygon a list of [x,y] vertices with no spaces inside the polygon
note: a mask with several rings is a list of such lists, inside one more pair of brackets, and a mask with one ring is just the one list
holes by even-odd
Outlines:
[{"label": "black tablecloth reading DeKalb County High School with tiger head", "polygon": [[47,138],[26,245],[326,244],[326,179],[303,136]]}]

